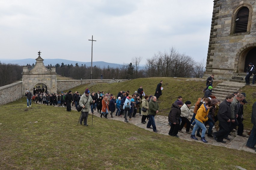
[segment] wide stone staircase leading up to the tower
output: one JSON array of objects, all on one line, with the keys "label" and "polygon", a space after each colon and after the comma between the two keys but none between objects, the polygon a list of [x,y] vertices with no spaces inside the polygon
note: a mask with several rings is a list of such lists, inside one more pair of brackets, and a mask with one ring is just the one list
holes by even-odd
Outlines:
[{"label": "wide stone staircase leading up to the tower", "polygon": [[[212,94],[216,98],[219,98],[221,101],[223,101],[226,99],[226,96],[228,94],[232,94],[233,92],[238,91],[243,86],[245,86],[245,82],[224,81],[222,83],[219,83],[216,87],[212,89]],[[252,86],[255,86],[255,85],[252,85]],[[195,106],[191,106],[190,108],[189,120],[193,116],[194,108]]]}]

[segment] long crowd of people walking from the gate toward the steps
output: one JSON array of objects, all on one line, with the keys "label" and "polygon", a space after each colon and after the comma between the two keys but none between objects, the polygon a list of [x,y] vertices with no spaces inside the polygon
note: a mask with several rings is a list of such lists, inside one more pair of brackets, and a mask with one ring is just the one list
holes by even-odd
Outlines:
[{"label": "long crowd of people walking from the gate toward the steps", "polygon": [[[207,143],[208,141],[205,137],[207,134],[207,137],[213,138],[217,142],[226,143],[223,139],[230,140],[228,135],[237,127],[237,135],[245,137],[243,134],[243,106],[248,103],[245,100],[245,93],[234,92],[227,95],[226,99],[221,102],[220,99],[212,95],[213,79],[214,75],[207,78],[206,89],[203,90],[204,96],[197,99],[191,120],[189,120],[191,101],[183,103],[182,96],[178,96],[177,100],[172,104],[168,116],[169,125],[171,126],[169,130],[170,136],[178,137],[178,132],[183,133],[182,129],[185,128],[185,132],[190,134],[191,139],[198,140],[197,137],[199,137],[202,142]],[[104,91],[90,92],[89,89],[86,89],[83,95],[79,92],[72,94],[70,90],[68,93],[61,92],[61,94],[38,92],[33,96],[27,90],[26,96],[29,99],[29,95],[31,95],[36,103],[57,105],[58,107],[64,106],[67,111],[71,111],[71,104],[75,105],[75,108],[82,107],[79,121],[81,125],[84,123],[85,126],[88,126],[88,114],[89,112],[94,113],[96,110],[101,118],[103,116],[108,119],[108,114],[113,118],[114,114],[114,116],[123,116],[124,122],[128,122],[128,119],[131,120],[132,117],[136,117],[136,113],[139,113],[139,115],[142,115],[141,123],[147,123],[147,128],[158,132],[154,117],[159,112],[157,100],[162,95],[162,84],[163,81],[157,84],[154,96],[145,95],[142,86],[134,93],[130,93],[129,90],[121,90],[116,96],[109,92],[104,93]],[[27,100],[27,107],[29,107],[29,100]],[[253,107],[251,120],[254,127],[251,130],[246,146],[255,149],[256,102]],[[148,122],[146,122],[146,119]],[[218,125],[216,124],[217,121]],[[216,129],[215,133],[213,133],[213,127]]]}]

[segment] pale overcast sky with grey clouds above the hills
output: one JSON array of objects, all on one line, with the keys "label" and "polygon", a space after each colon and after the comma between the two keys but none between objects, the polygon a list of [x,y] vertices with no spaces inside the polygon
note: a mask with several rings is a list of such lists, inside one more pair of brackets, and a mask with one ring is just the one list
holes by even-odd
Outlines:
[{"label": "pale overcast sky with grey clouds above the hills", "polygon": [[142,64],[172,46],[206,59],[212,0],[1,0],[0,60],[38,57]]}]

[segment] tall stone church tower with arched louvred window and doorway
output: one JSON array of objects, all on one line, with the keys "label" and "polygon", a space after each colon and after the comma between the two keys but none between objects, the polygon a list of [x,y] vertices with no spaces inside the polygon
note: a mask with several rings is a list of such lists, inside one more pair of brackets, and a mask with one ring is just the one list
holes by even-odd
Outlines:
[{"label": "tall stone church tower with arched louvred window and doorway", "polygon": [[214,0],[204,77],[231,79],[256,65],[255,0]]}]

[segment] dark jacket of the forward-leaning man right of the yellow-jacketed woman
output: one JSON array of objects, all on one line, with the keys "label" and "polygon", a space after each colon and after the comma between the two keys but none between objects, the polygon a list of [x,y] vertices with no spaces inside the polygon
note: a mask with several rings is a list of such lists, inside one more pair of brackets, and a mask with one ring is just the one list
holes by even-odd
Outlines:
[{"label": "dark jacket of the forward-leaning man right of the yellow-jacketed woman", "polygon": [[221,102],[218,110],[218,120],[227,122],[231,118],[230,103],[227,100]]}]

